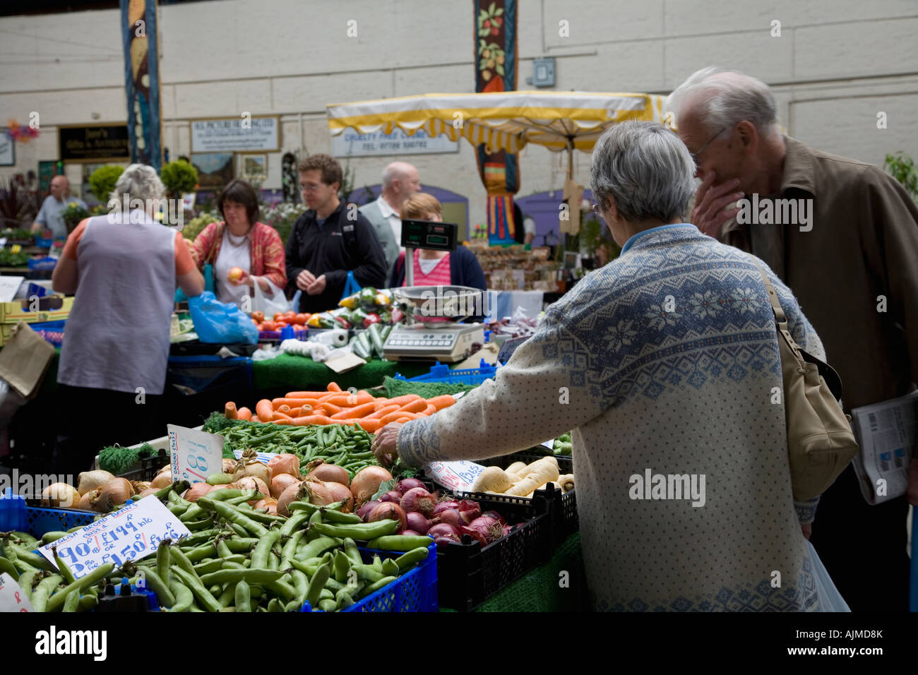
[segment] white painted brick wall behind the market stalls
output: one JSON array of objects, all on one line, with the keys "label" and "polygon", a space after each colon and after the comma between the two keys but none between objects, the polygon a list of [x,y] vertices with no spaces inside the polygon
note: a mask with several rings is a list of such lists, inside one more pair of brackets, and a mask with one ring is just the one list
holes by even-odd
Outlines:
[{"label": "white painted brick wall behind the market stalls", "polygon": [[[349,20],[357,38],[348,39]],[[781,22],[772,37],[772,21]],[[118,11],[0,18],[0,121],[40,114],[41,136],[17,146],[15,171],[57,158],[58,124],[122,121]],[[569,37],[559,35],[559,22]],[[283,150],[328,152],[326,104],[474,86],[471,3],[434,0],[214,0],[160,9],[163,139],[190,152],[189,118],[282,116]],[[668,93],[705,65],[771,84],[791,135],[826,152],[882,163],[918,158],[915,0],[521,0],[518,88],[532,59],[556,58],[558,91]],[[878,111],[888,129],[877,129]],[[421,180],[469,197],[485,219],[472,147],[405,157]],[[357,185],[385,158],[352,160]],[[588,155],[577,153],[588,178]],[[75,167],[71,171],[76,170]],[[280,186],[280,153],[264,187]],[[76,170],[78,171],[78,170]],[[10,173],[0,168],[0,173]],[[524,196],[560,189],[562,155],[532,147]]]}]

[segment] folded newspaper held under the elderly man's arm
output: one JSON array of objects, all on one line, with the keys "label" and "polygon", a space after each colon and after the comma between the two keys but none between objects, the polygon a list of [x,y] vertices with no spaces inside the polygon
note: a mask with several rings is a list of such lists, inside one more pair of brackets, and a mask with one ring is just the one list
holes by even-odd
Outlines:
[{"label": "folded newspaper held under the elderly man's arm", "polygon": [[899,399],[855,408],[851,426],[860,445],[852,460],[869,504],[905,494],[918,427],[918,390]]}]

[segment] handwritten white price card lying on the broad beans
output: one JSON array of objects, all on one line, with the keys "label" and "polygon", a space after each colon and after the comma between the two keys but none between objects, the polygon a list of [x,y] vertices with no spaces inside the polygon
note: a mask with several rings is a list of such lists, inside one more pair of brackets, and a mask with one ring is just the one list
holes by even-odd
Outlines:
[{"label": "handwritten white price card lying on the broad beans", "polygon": [[108,562],[119,568],[128,560],[151,556],[163,539],[177,542],[190,534],[173,512],[148,497],[41,546],[39,553],[53,565],[51,546],[57,546],[58,556],[80,579]]}]

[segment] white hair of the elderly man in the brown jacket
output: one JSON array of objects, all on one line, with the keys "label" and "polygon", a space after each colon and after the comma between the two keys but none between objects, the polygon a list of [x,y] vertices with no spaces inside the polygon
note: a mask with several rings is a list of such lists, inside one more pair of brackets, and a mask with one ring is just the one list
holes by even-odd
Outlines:
[{"label": "white hair of the elderly man in the brown jacket", "polygon": [[679,84],[666,100],[666,107],[676,117],[691,104],[701,124],[710,133],[733,129],[744,119],[756,125],[763,135],[778,132],[778,106],[768,85],[755,77],[702,68]]}]

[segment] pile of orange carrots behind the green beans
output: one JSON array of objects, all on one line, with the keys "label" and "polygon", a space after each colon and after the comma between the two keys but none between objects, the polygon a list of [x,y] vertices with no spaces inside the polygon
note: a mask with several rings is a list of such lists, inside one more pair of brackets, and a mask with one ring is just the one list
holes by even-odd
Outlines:
[{"label": "pile of orange carrots behind the green beans", "polygon": [[230,419],[251,419],[252,422],[306,426],[308,424],[356,424],[364,431],[378,433],[389,422],[408,422],[442,411],[455,403],[450,395],[424,399],[406,394],[394,399],[375,397],[365,389],[357,393],[341,391],[330,382],[327,391],[288,391],[286,396],[255,404],[255,413],[248,408],[236,409],[229,401],[225,413]]}]

